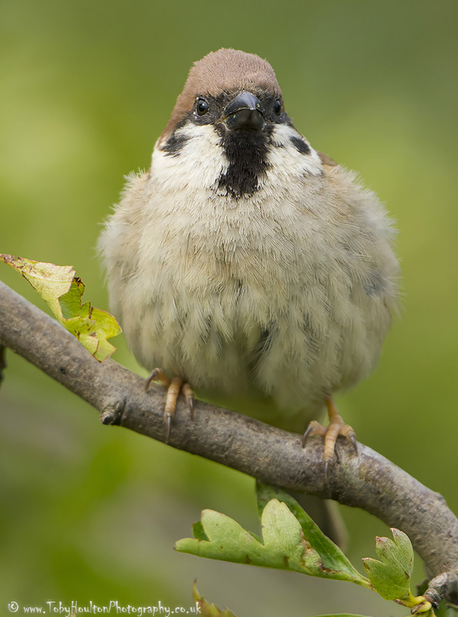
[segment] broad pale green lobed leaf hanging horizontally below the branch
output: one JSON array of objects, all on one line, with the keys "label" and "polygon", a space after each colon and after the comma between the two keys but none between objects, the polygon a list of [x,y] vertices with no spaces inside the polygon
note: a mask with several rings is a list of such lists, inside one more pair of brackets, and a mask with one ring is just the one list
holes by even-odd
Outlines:
[{"label": "broad pale green lobed leaf hanging horizontally below the branch", "polygon": [[[262,487],[260,499],[267,498],[270,490],[276,491],[271,487]],[[286,500],[286,494],[283,498]],[[300,514],[299,504],[294,500],[292,502],[288,501],[288,504],[291,503]],[[262,507],[262,539],[220,512],[203,510],[200,523],[194,525],[194,538],[178,540],[175,549],[210,559],[293,570],[310,576],[352,581],[370,586],[368,579],[352,567],[347,558],[322,535],[305,512],[302,523],[303,526],[288,508],[287,503],[279,501],[278,498],[269,499]],[[310,532],[312,541],[306,538],[304,530]],[[324,558],[315,547],[325,548]],[[338,551],[337,556],[334,554],[335,550]],[[331,567],[335,564],[342,565],[345,570]]]}]

